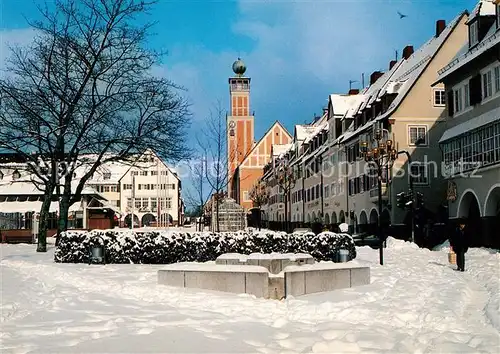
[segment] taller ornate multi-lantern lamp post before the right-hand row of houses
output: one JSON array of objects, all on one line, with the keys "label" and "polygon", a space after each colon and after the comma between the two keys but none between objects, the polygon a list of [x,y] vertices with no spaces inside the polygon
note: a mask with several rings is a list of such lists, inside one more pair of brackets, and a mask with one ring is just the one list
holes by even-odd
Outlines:
[{"label": "taller ornate multi-lantern lamp post before the right-hand row of houses", "polygon": [[[393,142],[390,139],[385,139],[380,122],[376,122],[373,127],[373,139],[369,139],[368,134],[362,134],[360,137],[360,149],[367,163],[375,166],[377,172],[377,187],[378,187],[378,238],[379,238],[379,254],[380,265],[384,264],[384,238],[382,235],[382,173],[384,168],[392,168],[394,161],[398,157],[398,152],[394,149]],[[371,140],[371,146],[368,146]]]}]

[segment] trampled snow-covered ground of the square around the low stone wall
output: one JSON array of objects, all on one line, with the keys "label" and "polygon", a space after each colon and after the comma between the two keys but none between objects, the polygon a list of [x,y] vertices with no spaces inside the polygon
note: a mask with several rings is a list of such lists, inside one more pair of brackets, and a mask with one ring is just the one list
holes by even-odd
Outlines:
[{"label": "trampled snow-covered ground of the square around the low stone wall", "polygon": [[1,353],[498,353],[500,255],[388,240],[372,284],[286,301],[156,284],[151,265],[55,264],[1,245]]}]

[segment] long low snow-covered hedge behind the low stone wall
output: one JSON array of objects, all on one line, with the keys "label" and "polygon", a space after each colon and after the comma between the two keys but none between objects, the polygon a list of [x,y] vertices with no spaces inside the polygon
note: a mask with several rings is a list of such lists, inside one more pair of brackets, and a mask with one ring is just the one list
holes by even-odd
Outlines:
[{"label": "long low snow-covered hedge behind the low stone wall", "polygon": [[340,249],[356,258],[353,239],[346,234],[286,234],[254,230],[211,233],[176,231],[67,231],[60,236],[55,261],[88,262],[89,246],[106,245],[107,263],[168,264],[214,261],[223,253],[309,253],[317,261],[336,260]]}]

